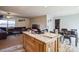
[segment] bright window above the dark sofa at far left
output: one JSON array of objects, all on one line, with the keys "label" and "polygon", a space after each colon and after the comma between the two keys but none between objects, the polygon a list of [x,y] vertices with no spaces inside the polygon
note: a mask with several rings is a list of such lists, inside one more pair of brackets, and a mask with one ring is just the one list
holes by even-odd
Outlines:
[{"label": "bright window above the dark sofa at far left", "polygon": [[0,20],[0,27],[15,27],[15,20]]}]

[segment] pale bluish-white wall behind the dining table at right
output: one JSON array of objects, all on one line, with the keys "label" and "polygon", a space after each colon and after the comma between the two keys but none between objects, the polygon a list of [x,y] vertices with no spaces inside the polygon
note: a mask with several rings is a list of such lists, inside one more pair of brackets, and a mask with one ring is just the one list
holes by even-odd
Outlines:
[{"label": "pale bluish-white wall behind the dining table at right", "polygon": [[60,19],[60,28],[77,29],[79,36],[79,14],[54,17],[54,19]]}]

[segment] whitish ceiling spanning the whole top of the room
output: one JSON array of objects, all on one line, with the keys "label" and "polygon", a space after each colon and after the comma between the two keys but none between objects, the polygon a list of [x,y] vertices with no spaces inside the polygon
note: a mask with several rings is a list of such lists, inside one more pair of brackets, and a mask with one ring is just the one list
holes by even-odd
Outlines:
[{"label": "whitish ceiling spanning the whole top of the room", "polygon": [[0,6],[0,14],[7,14],[22,17],[35,17],[41,15],[64,16],[79,14],[78,6]]}]

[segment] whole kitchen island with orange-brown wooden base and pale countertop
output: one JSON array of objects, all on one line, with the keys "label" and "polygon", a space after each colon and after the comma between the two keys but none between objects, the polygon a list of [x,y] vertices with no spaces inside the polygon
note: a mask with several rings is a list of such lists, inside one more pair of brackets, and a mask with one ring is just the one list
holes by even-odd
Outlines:
[{"label": "whole kitchen island with orange-brown wooden base and pale countertop", "polygon": [[32,34],[23,32],[23,47],[27,52],[58,52],[60,45],[59,34]]}]

